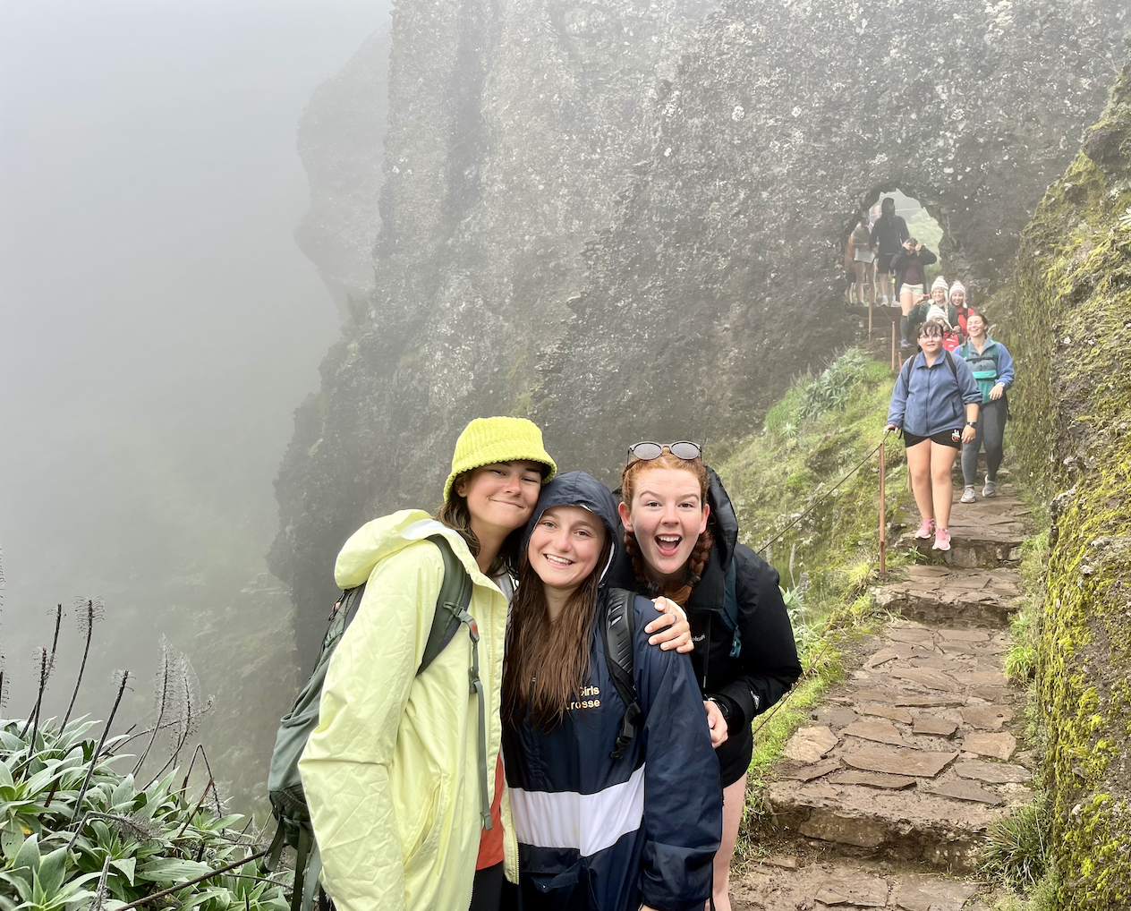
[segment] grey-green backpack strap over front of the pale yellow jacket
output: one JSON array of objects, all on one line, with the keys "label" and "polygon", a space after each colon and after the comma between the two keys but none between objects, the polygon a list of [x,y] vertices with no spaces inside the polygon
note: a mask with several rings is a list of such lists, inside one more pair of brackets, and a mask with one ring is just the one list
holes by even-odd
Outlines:
[{"label": "grey-green backpack strap over front of the pale yellow jacket", "polygon": [[472,639],[472,667],[468,669],[468,685],[470,695],[478,702],[480,737],[478,737],[478,773],[480,773],[480,815],[483,818],[483,828],[491,828],[491,792],[487,785],[487,705],[486,695],[483,691],[483,680],[480,678],[480,628],[475,624],[475,618],[467,610],[472,603],[472,577],[467,574],[464,565],[459,561],[456,552],[451,549],[448,539],[442,534],[429,535],[429,541],[440,550],[443,559],[443,583],[440,585],[440,594],[435,600],[435,616],[432,619],[432,629],[429,631],[428,643],[424,645],[424,656],[421,665],[416,669],[420,677],[429,665],[435,660],[455,637],[460,626],[467,627],[467,634]]}]

